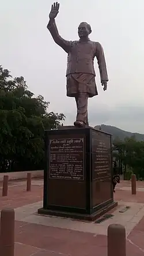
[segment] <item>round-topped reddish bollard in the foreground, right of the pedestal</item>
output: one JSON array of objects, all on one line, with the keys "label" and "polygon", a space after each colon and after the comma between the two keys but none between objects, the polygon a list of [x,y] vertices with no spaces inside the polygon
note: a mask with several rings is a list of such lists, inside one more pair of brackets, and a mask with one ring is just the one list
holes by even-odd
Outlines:
[{"label": "round-topped reddish bollard in the foreground, right of the pedestal", "polygon": [[123,225],[108,227],[108,256],[126,256],[126,229]]}]

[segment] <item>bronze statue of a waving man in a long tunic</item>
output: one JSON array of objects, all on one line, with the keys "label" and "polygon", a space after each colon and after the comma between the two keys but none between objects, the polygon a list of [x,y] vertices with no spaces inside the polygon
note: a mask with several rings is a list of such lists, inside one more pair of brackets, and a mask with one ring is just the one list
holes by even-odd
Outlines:
[{"label": "bronze statue of a waving man in a long tunic", "polygon": [[78,27],[78,41],[67,41],[63,39],[56,27],[55,17],[59,13],[59,3],[56,2],[51,6],[49,14],[50,21],[47,28],[50,31],[54,41],[64,51],[67,52],[67,96],[75,97],[77,104],[77,119],[74,126],[88,126],[88,98],[98,95],[95,82],[96,73],[94,71],[94,57],[96,56],[100,70],[101,85],[104,91],[107,90],[107,67],[105,63],[103,47],[98,42],[89,40],[92,32],[90,25],[81,22]]}]

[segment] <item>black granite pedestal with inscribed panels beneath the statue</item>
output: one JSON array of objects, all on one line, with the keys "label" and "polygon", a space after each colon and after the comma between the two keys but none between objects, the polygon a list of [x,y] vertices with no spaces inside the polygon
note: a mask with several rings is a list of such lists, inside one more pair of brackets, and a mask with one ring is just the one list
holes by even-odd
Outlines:
[{"label": "black granite pedestal with inscribed panels beneath the statue", "polygon": [[96,220],[113,201],[111,134],[62,126],[45,132],[43,208],[39,214]]}]

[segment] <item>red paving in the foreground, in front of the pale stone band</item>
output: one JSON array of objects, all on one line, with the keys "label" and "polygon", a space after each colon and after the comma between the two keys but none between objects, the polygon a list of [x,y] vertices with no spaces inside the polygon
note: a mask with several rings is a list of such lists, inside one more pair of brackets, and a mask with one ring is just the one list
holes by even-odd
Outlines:
[{"label": "red paving in the foreground, in front of the pale stone band", "polygon": [[[144,219],[143,219],[144,221]],[[138,236],[137,236],[138,235]],[[144,253],[143,237],[138,231],[132,231],[127,240],[127,256],[142,256]],[[16,221],[16,256],[21,250],[25,256],[31,252],[36,256],[71,255],[71,256],[101,256],[107,255],[107,236],[69,229],[45,227]],[[132,244],[133,243],[133,244]],[[26,244],[24,247],[23,244]],[[139,249],[140,247],[140,249]]]}]

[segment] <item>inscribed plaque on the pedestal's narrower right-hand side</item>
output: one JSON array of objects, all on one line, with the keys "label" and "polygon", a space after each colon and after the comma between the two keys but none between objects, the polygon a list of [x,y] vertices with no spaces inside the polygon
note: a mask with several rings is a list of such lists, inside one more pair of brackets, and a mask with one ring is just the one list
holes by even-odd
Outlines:
[{"label": "inscribed plaque on the pedestal's narrower right-hand side", "polygon": [[93,132],[93,179],[111,175],[111,140],[110,135]]}]

